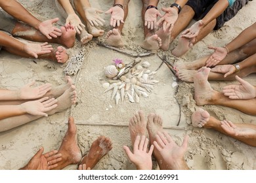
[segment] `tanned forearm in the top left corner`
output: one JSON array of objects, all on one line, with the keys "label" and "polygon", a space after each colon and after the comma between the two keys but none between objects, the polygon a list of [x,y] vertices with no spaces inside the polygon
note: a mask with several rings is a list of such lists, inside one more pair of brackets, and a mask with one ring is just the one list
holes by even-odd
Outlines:
[{"label": "tanned forearm in the top left corner", "polygon": [[0,7],[3,8],[7,13],[11,14],[17,20],[21,20],[28,25],[31,25],[35,29],[39,29],[38,25],[41,23],[40,20],[37,20],[26,8],[24,8],[20,3],[14,0],[9,1],[0,1]]}]

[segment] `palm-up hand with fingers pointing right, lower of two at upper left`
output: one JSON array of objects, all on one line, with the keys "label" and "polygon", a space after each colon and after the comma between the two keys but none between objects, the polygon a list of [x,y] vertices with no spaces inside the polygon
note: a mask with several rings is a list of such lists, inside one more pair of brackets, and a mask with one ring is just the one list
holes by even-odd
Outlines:
[{"label": "palm-up hand with fingers pointing right, lower of two at upper left", "polygon": [[24,49],[24,52],[26,52],[30,56],[33,56],[34,58],[38,58],[38,55],[51,53],[51,50],[53,50],[53,46],[51,44],[48,44],[48,42],[45,42],[42,44],[26,42],[24,44],[23,49]]}]

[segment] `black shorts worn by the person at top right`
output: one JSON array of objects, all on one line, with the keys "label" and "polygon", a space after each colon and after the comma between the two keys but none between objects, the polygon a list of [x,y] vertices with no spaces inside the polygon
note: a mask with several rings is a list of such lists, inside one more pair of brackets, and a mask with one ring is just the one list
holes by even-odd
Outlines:
[{"label": "black shorts worn by the person at top right", "polygon": [[[211,10],[211,8],[217,3],[219,0],[188,0],[186,5],[190,6],[195,15],[193,17],[194,20],[202,20],[203,17]],[[238,11],[247,4],[249,0],[236,0],[232,7],[226,8],[224,12],[216,18],[217,23],[214,27],[215,30],[220,29],[225,22],[228,22],[231,18],[236,16]]]}]

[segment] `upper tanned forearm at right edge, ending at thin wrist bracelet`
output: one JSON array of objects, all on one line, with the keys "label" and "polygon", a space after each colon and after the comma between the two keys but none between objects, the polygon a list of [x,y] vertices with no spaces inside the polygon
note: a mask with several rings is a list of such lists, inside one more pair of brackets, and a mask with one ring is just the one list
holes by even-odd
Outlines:
[{"label": "upper tanned forearm at right edge, ending at thin wrist bracelet", "polygon": [[226,47],[230,52],[233,50],[236,50],[237,48],[240,48],[244,44],[247,44],[248,42],[252,41],[256,38],[256,23],[253,25],[247,27],[242,31],[235,39],[233,39],[231,42],[226,44]]}]

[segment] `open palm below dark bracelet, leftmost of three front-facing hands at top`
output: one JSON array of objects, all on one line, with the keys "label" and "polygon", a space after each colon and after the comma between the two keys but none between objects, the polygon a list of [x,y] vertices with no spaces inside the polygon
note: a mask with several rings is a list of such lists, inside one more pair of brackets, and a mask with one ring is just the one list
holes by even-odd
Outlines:
[{"label": "open palm below dark bracelet, leftmost of three front-facing hands at top", "polygon": [[125,17],[125,12],[121,7],[112,7],[105,12],[105,14],[111,14],[110,25],[112,27],[118,27],[123,22],[123,18]]}]

